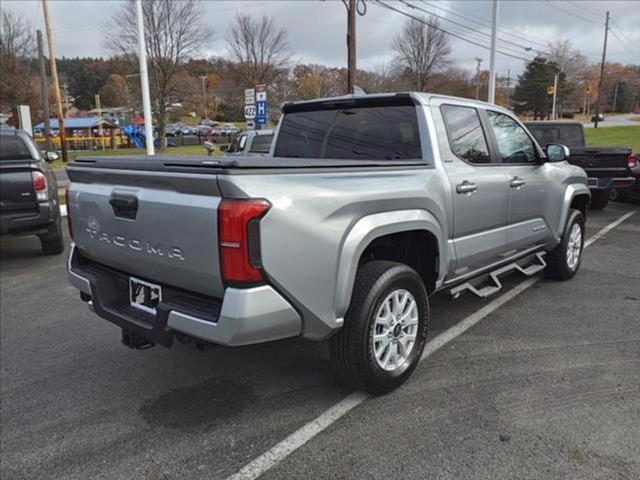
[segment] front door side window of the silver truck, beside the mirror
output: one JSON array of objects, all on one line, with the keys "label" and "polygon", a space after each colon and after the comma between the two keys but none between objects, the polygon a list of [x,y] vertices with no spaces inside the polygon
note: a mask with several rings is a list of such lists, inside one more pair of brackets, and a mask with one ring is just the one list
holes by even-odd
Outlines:
[{"label": "front door side window of the silver truck, beside the mirror", "polygon": [[513,118],[487,110],[489,125],[498,144],[502,163],[536,163],[536,147],[524,129]]}]

